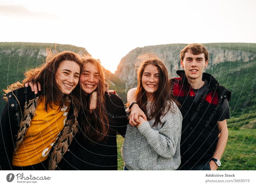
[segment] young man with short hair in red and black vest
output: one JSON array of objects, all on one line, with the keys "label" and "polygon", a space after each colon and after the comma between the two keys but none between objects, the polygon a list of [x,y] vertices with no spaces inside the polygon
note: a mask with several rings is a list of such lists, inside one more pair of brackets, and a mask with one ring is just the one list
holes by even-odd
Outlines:
[{"label": "young man with short hair in red and black vest", "polygon": [[[212,75],[203,73],[209,53],[198,43],[189,44],[180,52],[179,78],[172,78],[172,93],[180,102],[183,116],[180,141],[181,164],[178,170],[216,170],[228,140],[230,91]],[[146,117],[134,99],[136,88],[128,91],[131,107],[130,124]]]}]

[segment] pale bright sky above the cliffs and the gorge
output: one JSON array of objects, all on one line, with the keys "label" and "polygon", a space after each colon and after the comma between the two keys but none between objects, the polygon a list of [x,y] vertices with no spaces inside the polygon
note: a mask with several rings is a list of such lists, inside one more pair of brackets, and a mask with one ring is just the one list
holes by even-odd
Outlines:
[{"label": "pale bright sky above the cliffs and the gorge", "polygon": [[84,47],[114,73],[136,47],[256,43],[255,5],[253,0],[0,0],[0,42]]}]

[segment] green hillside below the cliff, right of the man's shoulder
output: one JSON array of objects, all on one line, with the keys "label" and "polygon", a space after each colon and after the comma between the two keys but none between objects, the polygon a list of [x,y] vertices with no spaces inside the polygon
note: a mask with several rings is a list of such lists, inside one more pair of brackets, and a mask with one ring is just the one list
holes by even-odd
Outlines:
[{"label": "green hillside below the cliff, right of the man's shoulder", "polygon": [[[256,61],[249,63],[223,62],[206,71],[215,77],[217,81],[231,91],[229,102],[232,117],[247,118],[244,115],[254,114],[256,101]],[[252,118],[252,116],[248,116]],[[232,120],[234,122],[234,120]],[[246,122],[250,122],[246,120]],[[236,125],[241,126],[242,123]],[[248,124],[248,123],[247,123]],[[254,125],[255,128],[255,125]]]}]

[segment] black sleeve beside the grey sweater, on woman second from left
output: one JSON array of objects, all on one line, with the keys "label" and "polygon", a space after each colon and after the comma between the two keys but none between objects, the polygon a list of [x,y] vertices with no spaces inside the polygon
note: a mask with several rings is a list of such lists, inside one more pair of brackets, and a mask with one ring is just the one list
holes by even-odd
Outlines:
[{"label": "black sleeve beside the grey sweater, on woman second from left", "polygon": [[107,97],[106,107],[108,117],[113,125],[110,127],[115,128],[116,131],[124,137],[128,124],[124,103],[122,99],[115,94],[110,94],[110,96]]}]

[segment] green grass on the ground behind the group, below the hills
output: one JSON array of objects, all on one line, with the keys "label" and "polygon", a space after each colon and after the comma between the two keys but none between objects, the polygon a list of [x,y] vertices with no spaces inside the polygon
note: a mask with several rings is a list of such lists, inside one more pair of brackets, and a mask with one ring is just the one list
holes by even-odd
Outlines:
[{"label": "green grass on the ground behind the group, below the hills", "polygon": [[[117,136],[118,170],[124,167],[123,141],[122,136]],[[228,143],[218,170],[256,170],[256,129],[229,128]]]}]

